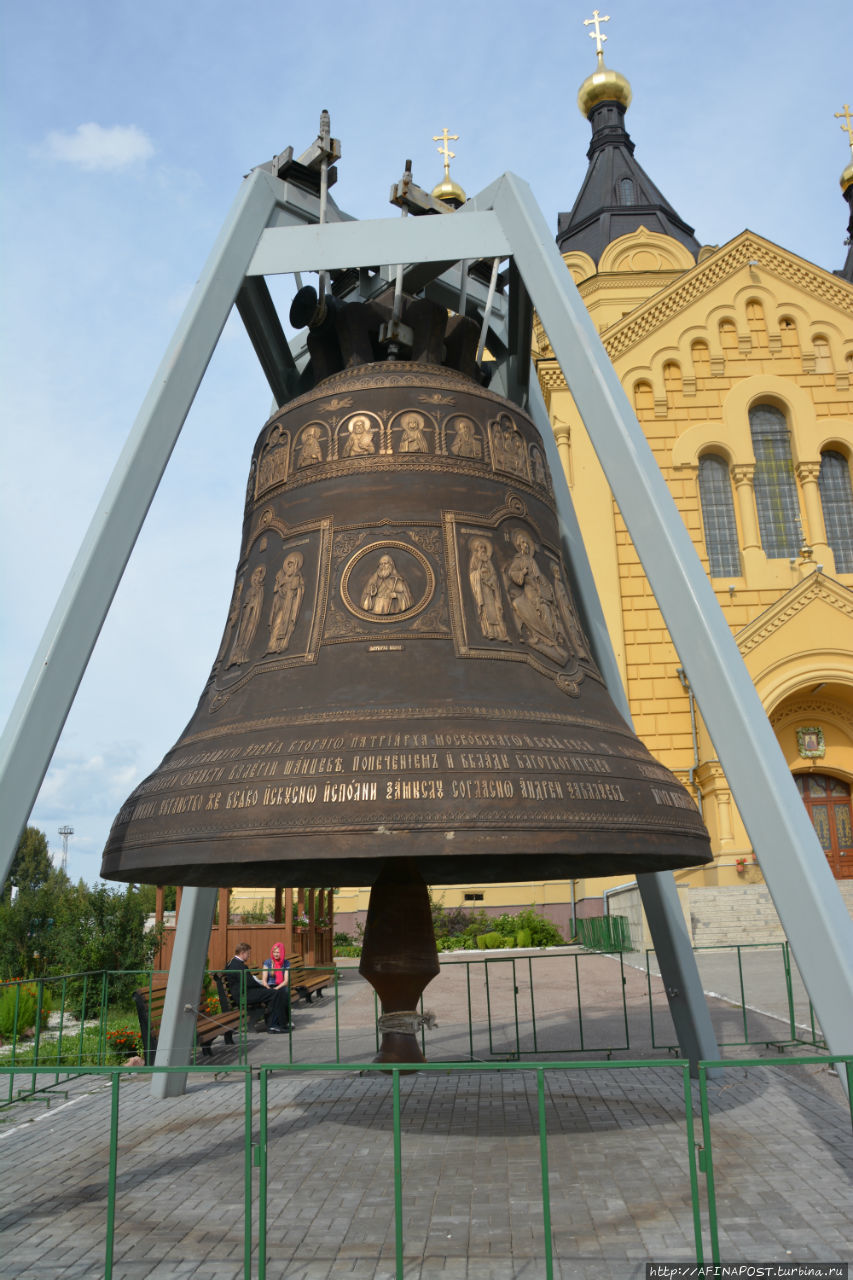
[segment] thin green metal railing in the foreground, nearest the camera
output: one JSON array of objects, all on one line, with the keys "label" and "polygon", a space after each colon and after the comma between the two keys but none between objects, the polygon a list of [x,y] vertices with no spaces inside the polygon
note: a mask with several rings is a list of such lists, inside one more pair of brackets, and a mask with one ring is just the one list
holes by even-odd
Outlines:
[{"label": "thin green metal railing in the foreground, nearest the camera", "polygon": [[[553,1224],[552,1224],[552,1206],[551,1206],[551,1169],[549,1169],[549,1146],[548,1146],[548,1108],[546,1106],[547,1093],[546,1084],[548,1079],[552,1079],[555,1073],[599,1073],[599,1071],[617,1071],[617,1073],[642,1073],[643,1070],[654,1069],[665,1073],[672,1073],[676,1079],[680,1078],[679,1093],[683,1098],[684,1106],[684,1124],[679,1128],[681,1132],[684,1147],[683,1157],[676,1158],[676,1152],[674,1148],[667,1147],[667,1179],[671,1185],[671,1194],[674,1198],[680,1197],[684,1204],[689,1203],[689,1215],[693,1233],[693,1248],[695,1263],[698,1266],[704,1265],[706,1253],[710,1253],[711,1260],[715,1265],[720,1265],[720,1236],[721,1231],[726,1228],[726,1212],[731,1212],[730,1226],[733,1235],[736,1236],[739,1233],[743,1234],[744,1225],[748,1225],[752,1219],[749,1212],[744,1208],[742,1202],[738,1202],[734,1210],[729,1204],[729,1208],[724,1206],[721,1210],[720,1199],[717,1196],[717,1184],[720,1179],[727,1180],[730,1184],[736,1181],[738,1170],[731,1167],[733,1161],[736,1162],[736,1151],[733,1152],[725,1147],[722,1155],[715,1156],[712,1146],[712,1121],[715,1120],[715,1102],[711,1100],[711,1091],[708,1083],[708,1073],[719,1073],[735,1069],[770,1069],[771,1071],[777,1071],[780,1069],[793,1069],[803,1066],[809,1066],[813,1064],[820,1064],[821,1066],[831,1064],[839,1064],[840,1069],[847,1075],[848,1089],[853,1089],[853,1055],[838,1056],[838,1057],[803,1057],[803,1059],[789,1059],[789,1060],[771,1060],[766,1059],[748,1059],[738,1061],[715,1061],[715,1062],[702,1062],[699,1066],[699,1082],[698,1087],[690,1083],[689,1066],[683,1061],[667,1060],[652,1060],[652,1061],[625,1061],[625,1062],[489,1062],[489,1064],[460,1064],[460,1062],[429,1062],[423,1065],[387,1065],[387,1064],[364,1064],[364,1062],[336,1062],[336,1064],[301,1064],[292,1066],[282,1065],[264,1065],[260,1068],[248,1068],[245,1065],[231,1065],[220,1066],[216,1069],[216,1079],[222,1082],[223,1079],[232,1079],[236,1084],[241,1087],[242,1094],[242,1120],[240,1121],[241,1138],[238,1146],[242,1146],[242,1155],[234,1155],[229,1157],[233,1165],[233,1160],[241,1161],[242,1174],[240,1178],[242,1185],[242,1275],[243,1280],[265,1280],[266,1267],[268,1267],[268,1225],[270,1222],[270,1213],[278,1215],[282,1212],[283,1206],[280,1203],[275,1204],[273,1210],[269,1203],[269,1162],[270,1156],[275,1151],[275,1142],[282,1144],[278,1149],[279,1160],[287,1158],[287,1143],[292,1140],[291,1130],[286,1129],[282,1132],[280,1125],[275,1134],[275,1142],[270,1132],[270,1120],[275,1114],[274,1107],[270,1102],[270,1085],[279,1083],[282,1078],[292,1079],[295,1075],[307,1075],[309,1073],[316,1076],[334,1076],[341,1073],[383,1073],[384,1075],[391,1075],[391,1089],[389,1096],[386,1094],[384,1106],[388,1107],[389,1116],[383,1120],[382,1116],[373,1119],[370,1123],[377,1124],[383,1128],[388,1124],[391,1132],[391,1161],[393,1164],[393,1240],[394,1240],[394,1275],[397,1280],[403,1277],[403,1258],[405,1258],[405,1233],[406,1233],[406,1216],[403,1204],[403,1187],[409,1185],[409,1196],[411,1201],[411,1185],[416,1179],[424,1181],[423,1172],[419,1166],[410,1167],[406,1164],[406,1148],[403,1143],[402,1123],[401,1123],[401,1075],[411,1075],[416,1073],[421,1076],[428,1076],[430,1074],[441,1073],[442,1075],[453,1074],[462,1075],[465,1073],[482,1073],[483,1075],[494,1073],[525,1073],[528,1079],[535,1082],[535,1132],[538,1138],[538,1164],[539,1164],[539,1216],[542,1224],[542,1242],[544,1249],[544,1275],[551,1280],[555,1274],[555,1260],[556,1249],[553,1242]],[[17,1073],[26,1073],[26,1068],[0,1068],[0,1071],[14,1078]],[[106,1181],[106,1196],[105,1196],[105,1208],[104,1208],[104,1239],[102,1239],[102,1257],[104,1257],[104,1276],[106,1280],[111,1280],[114,1272],[114,1257],[115,1257],[115,1244],[117,1244],[117,1231],[119,1230],[118,1224],[123,1224],[124,1219],[122,1215],[122,1197],[119,1190],[119,1167],[122,1157],[122,1125],[120,1125],[120,1096],[123,1085],[129,1084],[140,1074],[152,1075],[161,1074],[163,1071],[183,1071],[182,1068],[136,1068],[136,1069],[120,1069],[120,1068],[77,1068],[69,1069],[67,1073],[68,1082],[72,1080],[74,1075],[100,1075],[109,1080],[109,1114],[105,1108],[104,1111],[104,1125],[109,1125],[109,1143],[104,1143],[104,1160],[105,1160],[105,1181]],[[202,1082],[197,1082],[199,1075],[207,1076],[210,1079],[209,1068],[190,1068],[190,1084],[195,1091]],[[663,1080],[662,1088],[667,1094],[671,1094],[671,1088],[667,1082]],[[629,1087],[630,1091],[630,1087]],[[695,1102],[698,1094],[698,1108],[699,1108],[699,1123],[701,1123],[701,1137],[697,1140],[697,1120],[695,1120]],[[717,1103],[720,1111],[725,1107],[730,1107],[730,1102],[725,1102],[726,1087],[721,1087],[717,1094]],[[174,1100],[172,1106],[181,1106],[179,1100]],[[275,1103],[280,1112],[280,1100]],[[146,1106],[146,1116],[154,1117],[156,1115],[158,1103],[149,1103]],[[479,1107],[483,1108],[484,1114],[488,1116],[492,1114],[494,1106],[493,1096],[489,1088],[483,1089],[483,1096],[479,1097]],[[154,1111],[151,1108],[155,1108]],[[533,1110],[533,1108],[532,1108]],[[738,1125],[738,1132],[740,1132],[743,1125],[743,1102],[738,1103],[735,1107],[738,1115],[734,1121]],[[240,1111],[240,1106],[237,1107]],[[419,1123],[423,1124],[423,1112],[418,1112]],[[808,1117],[806,1116],[806,1121]],[[850,1112],[850,1121],[853,1124],[853,1111]],[[205,1152],[210,1151],[210,1137],[211,1125],[216,1124],[215,1115],[202,1116],[199,1121],[204,1125],[204,1138],[202,1149]],[[613,1121],[615,1123],[615,1121]],[[766,1123],[761,1116],[757,1117],[757,1124]],[[87,1121],[87,1142],[100,1140],[105,1134],[99,1135],[95,1128]],[[191,1124],[188,1121],[181,1123],[181,1132],[183,1135],[183,1143],[179,1152],[169,1155],[164,1153],[164,1160],[167,1162],[173,1158],[177,1161],[175,1167],[190,1160],[193,1165],[193,1157],[187,1155],[188,1144],[191,1144]],[[54,1130],[55,1132],[55,1130]],[[37,1134],[33,1133],[32,1138],[37,1140]],[[795,1134],[788,1135],[792,1140],[797,1139]],[[32,1140],[32,1139],[31,1139]],[[56,1140],[56,1139],[54,1139]],[[608,1149],[608,1148],[606,1148]],[[622,1161],[630,1161],[630,1138],[628,1132],[625,1133],[624,1146],[620,1148],[622,1152]],[[774,1153],[768,1149],[767,1155],[768,1162],[772,1162]],[[830,1156],[827,1155],[827,1161]],[[205,1162],[201,1161],[204,1165]],[[683,1170],[684,1184],[681,1192],[678,1190],[678,1181],[672,1185],[672,1169]],[[780,1172],[790,1176],[792,1170],[784,1164],[780,1157]],[[795,1172],[795,1170],[793,1171]],[[353,1185],[361,1185],[364,1183],[364,1169],[352,1170]],[[133,1169],[128,1170],[129,1183],[128,1187],[138,1185],[138,1172]],[[27,1178],[26,1167],[20,1169],[20,1176]],[[471,1178],[483,1178],[484,1172],[478,1174],[474,1167],[471,1167]],[[346,1175],[345,1175],[346,1180]],[[763,1184],[762,1184],[763,1185]],[[423,1188],[419,1188],[423,1189]],[[206,1235],[215,1236],[215,1229],[218,1222],[220,1224],[223,1219],[227,1217],[228,1222],[233,1221],[233,1213],[237,1208],[233,1203],[229,1206],[228,1215],[218,1215],[218,1217],[210,1217],[210,1196],[205,1194],[202,1197],[202,1203],[200,1203],[200,1220],[199,1230],[204,1230]],[[240,1212],[240,1210],[237,1210]],[[754,1220],[760,1224],[760,1219]],[[151,1231],[156,1234],[156,1222],[151,1222]],[[120,1233],[119,1233],[120,1234]],[[58,1245],[59,1247],[59,1245]],[[42,1256],[42,1261],[49,1261],[49,1258]],[[168,1260],[172,1265],[179,1263],[182,1260],[175,1258],[172,1254]],[[190,1261],[190,1260],[187,1260]],[[280,1261],[277,1256],[277,1261]],[[307,1261],[307,1258],[306,1258]],[[571,1261],[566,1256],[566,1252],[560,1254],[558,1261],[565,1263]]]}]

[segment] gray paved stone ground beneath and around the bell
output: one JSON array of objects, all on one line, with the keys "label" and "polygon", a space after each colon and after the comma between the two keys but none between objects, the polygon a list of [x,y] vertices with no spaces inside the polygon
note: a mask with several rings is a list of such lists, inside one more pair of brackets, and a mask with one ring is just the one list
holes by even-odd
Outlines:
[{"label": "gray paved stone ground beneath and around the bell", "polygon": [[[617,961],[585,957],[589,1043],[624,1034]],[[573,961],[574,965],[574,961]],[[516,966],[489,978],[493,1042],[516,1043]],[[573,989],[555,969],[534,987],[537,1037],[578,1038]],[[430,1033],[435,1061],[469,1056],[464,968],[442,974]],[[506,977],[508,975],[508,977]],[[626,969],[628,988],[646,975]],[[494,983],[497,983],[497,977]],[[479,983],[479,986],[478,986]],[[471,977],[474,1011],[484,979]],[[433,996],[430,988],[430,997]],[[521,991],[519,992],[519,996]],[[657,998],[657,997],[656,997]],[[501,1007],[503,1001],[503,1007]],[[633,1000],[628,1001],[633,1009]],[[616,1006],[616,1007],[613,1007]],[[640,1006],[638,1005],[638,1009]],[[373,1053],[371,997],[356,974],[341,984],[338,1034],[357,1061]],[[738,1011],[715,1002],[715,1023]],[[639,1012],[637,1034],[643,1025]],[[498,1019],[500,1021],[500,1019]],[[585,1019],[587,1021],[587,1019]],[[648,1039],[648,1009],[644,1025]],[[779,1024],[767,1024],[777,1033]],[[593,1036],[594,1032],[594,1036]],[[521,1038],[530,1037],[521,1020]],[[488,1043],[478,1029],[475,1052]],[[772,1038],[772,1036],[770,1037]],[[542,1048],[542,1041],[539,1047]],[[547,1043],[544,1044],[547,1048]],[[359,1050],[357,1059],[355,1050]],[[529,1048],[523,1044],[523,1048]],[[631,1036],[631,1052],[638,1044]],[[647,1048],[648,1052],[648,1048]],[[745,1051],[758,1056],[754,1050]],[[725,1262],[853,1260],[853,1133],[834,1071],[780,1057],[733,1060],[710,1087],[713,1169]],[[296,1061],[334,1057],[334,1005],[297,1005]],[[743,1050],[731,1050],[727,1056]],[[237,1280],[243,1275],[245,1078],[216,1071],[237,1052],[216,1046],[187,1094],[152,1101],[146,1073],[122,1076],[115,1280]],[[257,1066],[272,1064],[268,1126],[269,1280],[392,1280],[394,1194],[392,1082],[359,1070],[292,1073],[287,1037],[254,1036],[252,1135],[260,1133]],[[603,1059],[606,1052],[599,1051]],[[624,1051],[615,1059],[626,1059]],[[576,1061],[576,1059],[574,1060]],[[695,1261],[683,1076],[678,1068],[547,1070],[553,1274],[634,1280],[654,1261]],[[535,1073],[435,1071],[401,1078],[406,1280],[542,1280],[546,1276]],[[693,1085],[697,1140],[698,1089]],[[0,1112],[0,1276],[81,1280],[104,1275],[109,1082],[83,1076]],[[257,1276],[260,1170],[252,1179],[252,1276]],[[710,1261],[706,1179],[702,1229]]]}]

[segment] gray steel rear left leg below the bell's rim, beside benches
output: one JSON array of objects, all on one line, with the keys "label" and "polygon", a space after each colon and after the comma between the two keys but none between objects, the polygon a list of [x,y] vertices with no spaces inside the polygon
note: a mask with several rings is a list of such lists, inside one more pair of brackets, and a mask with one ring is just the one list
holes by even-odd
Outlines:
[{"label": "gray steel rear left leg below the bell's rim, beside benches", "polygon": [[[190,1065],[218,893],[218,888],[184,888],[181,895],[155,1066]],[[177,1098],[186,1089],[186,1071],[160,1071],[151,1079],[152,1098]]]}]

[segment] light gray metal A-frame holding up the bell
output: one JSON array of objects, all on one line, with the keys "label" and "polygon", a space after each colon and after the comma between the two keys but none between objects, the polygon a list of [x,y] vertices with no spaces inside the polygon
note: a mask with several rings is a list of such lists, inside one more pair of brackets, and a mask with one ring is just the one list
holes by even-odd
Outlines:
[{"label": "light gray metal A-frame holding up the bell", "polygon": [[[505,174],[452,216],[302,225],[316,221],[314,204],[313,197],[256,170],[223,228],[0,742],[0,870],[4,876],[8,872],[124,564],[245,278],[375,264],[512,257],[695,691],[824,1034],[833,1052],[852,1052],[853,924],[689,535],[529,188]],[[342,215],[334,211],[333,216]],[[241,296],[251,311],[252,294]],[[515,385],[526,381],[526,364],[521,370],[519,355],[514,352],[514,361],[507,362],[507,380]],[[279,372],[286,379],[287,369],[282,366]],[[548,431],[543,434],[549,438]],[[555,476],[561,475],[558,466],[552,470]],[[578,538],[576,526],[574,517],[566,524],[570,504],[565,495],[562,502],[564,534],[571,544]],[[610,641],[594,604],[594,588],[583,577],[581,572],[579,593],[596,653],[611,692],[624,707],[607,658]],[[702,1014],[704,1001],[695,964],[692,955],[688,959],[674,883],[665,886],[666,879],[642,877],[665,984],[685,1055],[694,1060],[713,1057],[716,1044],[707,1010]],[[204,964],[197,938],[209,902],[204,891],[196,896],[196,908],[182,911],[178,923],[175,950],[183,959],[177,966],[173,961],[169,982],[175,998],[168,1001],[173,1016],[161,1028],[163,1055],[173,1064],[181,1039],[173,1018],[191,998],[195,970]],[[181,1092],[179,1076],[169,1080],[174,1085],[163,1092]]]}]

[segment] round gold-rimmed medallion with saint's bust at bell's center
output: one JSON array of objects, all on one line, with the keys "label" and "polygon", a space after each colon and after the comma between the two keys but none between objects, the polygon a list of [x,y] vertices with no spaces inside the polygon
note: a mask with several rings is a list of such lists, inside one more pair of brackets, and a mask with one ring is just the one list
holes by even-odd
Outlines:
[{"label": "round gold-rimmed medallion with saint's bust at bell's center", "polygon": [[[368,557],[370,561],[365,566],[362,562]],[[411,567],[406,566],[405,557],[416,562],[418,576],[423,579],[418,595],[412,590]],[[373,571],[371,562],[375,566]],[[357,588],[355,599],[350,590],[351,582]],[[360,548],[350,558],[341,579],[341,599],[350,613],[364,622],[379,622],[383,626],[396,620],[407,622],[414,618],[426,608],[434,591],[435,573],[426,557],[416,547],[397,539],[383,539]]]}]

